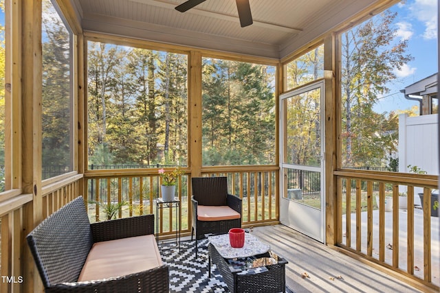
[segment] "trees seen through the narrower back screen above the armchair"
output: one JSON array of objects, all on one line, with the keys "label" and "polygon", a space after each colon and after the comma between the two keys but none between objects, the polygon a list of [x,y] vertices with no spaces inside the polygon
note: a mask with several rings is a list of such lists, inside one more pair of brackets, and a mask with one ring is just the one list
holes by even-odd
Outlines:
[{"label": "trees seen through the narrower back screen above the armchair", "polygon": [[203,58],[203,165],[274,163],[274,69]]}]

